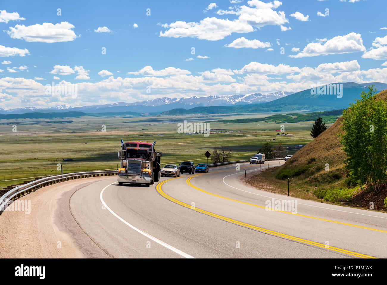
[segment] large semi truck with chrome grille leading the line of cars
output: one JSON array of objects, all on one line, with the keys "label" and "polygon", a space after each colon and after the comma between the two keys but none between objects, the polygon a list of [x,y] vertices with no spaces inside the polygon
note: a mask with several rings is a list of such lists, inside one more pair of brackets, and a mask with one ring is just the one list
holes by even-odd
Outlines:
[{"label": "large semi truck with chrome grille leading the line of cars", "polygon": [[120,168],[118,169],[118,185],[123,183],[144,184],[149,187],[160,180],[161,152],[154,149],[153,143],[129,141],[121,139],[121,150],[118,151]]}]

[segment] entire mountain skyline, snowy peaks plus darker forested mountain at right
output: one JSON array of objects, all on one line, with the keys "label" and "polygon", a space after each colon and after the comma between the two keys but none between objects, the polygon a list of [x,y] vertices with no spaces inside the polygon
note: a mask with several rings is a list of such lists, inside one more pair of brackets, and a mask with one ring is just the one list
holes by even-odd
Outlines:
[{"label": "entire mountain skyline, snowy peaks plus darker forested mountain at right", "polygon": [[[297,93],[277,92],[267,95],[253,93],[249,95],[189,97],[180,99],[158,98],[135,103],[118,102],[85,107],[60,105],[50,109],[37,109],[33,107],[12,110],[0,109],[0,119],[55,119],[72,116],[113,117],[141,116],[146,114],[246,114],[262,112],[330,111],[347,108],[349,103],[353,103],[356,99],[360,98],[362,91],[368,91],[369,85],[374,85],[378,92],[387,89],[387,84],[380,82],[364,84],[345,82],[333,83],[333,85],[340,86],[339,90],[341,92],[335,92],[334,94],[323,92],[323,85],[315,89],[307,89]],[[319,91],[316,92],[317,90]],[[328,87],[326,90],[330,90],[330,88]],[[193,106],[195,107],[191,108]]]}]

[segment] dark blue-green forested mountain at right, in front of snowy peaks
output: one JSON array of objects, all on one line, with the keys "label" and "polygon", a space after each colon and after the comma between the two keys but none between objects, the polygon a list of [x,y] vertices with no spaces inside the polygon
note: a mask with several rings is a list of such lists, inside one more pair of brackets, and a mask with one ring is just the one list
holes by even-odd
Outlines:
[{"label": "dark blue-green forested mountain at right, in front of snowy peaks", "polygon": [[[214,107],[195,107],[192,109],[173,109],[163,112],[164,115],[176,114],[231,114],[231,113],[259,113],[259,112],[288,112],[288,111],[330,111],[337,109],[345,109],[349,103],[360,99],[361,91],[368,91],[369,85],[374,85],[378,92],[387,89],[387,84],[380,82],[370,82],[358,84],[354,82],[332,83],[339,86],[340,95],[327,94],[321,92],[324,90],[324,85],[315,89],[307,89],[291,95],[278,98],[271,102],[248,105],[233,105],[233,106],[214,106]],[[325,85],[325,88],[327,85]],[[341,90],[342,86],[342,90]],[[330,87],[328,87],[330,90]],[[319,92],[317,92],[319,90]],[[322,94],[324,93],[324,94]],[[330,93],[330,92],[329,92]]]}]

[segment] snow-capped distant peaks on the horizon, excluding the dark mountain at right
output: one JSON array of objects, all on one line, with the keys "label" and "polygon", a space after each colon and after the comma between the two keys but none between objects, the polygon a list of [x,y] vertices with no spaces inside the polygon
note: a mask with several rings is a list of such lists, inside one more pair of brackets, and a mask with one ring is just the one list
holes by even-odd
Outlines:
[{"label": "snow-capped distant peaks on the horizon, excluding the dark mountain at right", "polygon": [[26,107],[5,110],[0,108],[0,114],[24,114],[30,112],[50,113],[50,112],[128,112],[133,111],[131,106],[135,106],[135,111],[140,113],[157,113],[171,109],[183,108],[191,109],[193,107],[209,106],[231,106],[241,104],[253,104],[260,102],[269,102],[278,98],[293,94],[293,92],[274,92],[269,94],[252,93],[248,95],[230,95],[230,96],[205,96],[205,97],[184,97],[184,98],[157,98],[147,101],[138,101],[134,103],[117,102],[104,105],[90,105],[84,107],[72,107],[70,105],[58,105],[52,108]]}]

